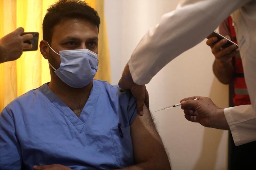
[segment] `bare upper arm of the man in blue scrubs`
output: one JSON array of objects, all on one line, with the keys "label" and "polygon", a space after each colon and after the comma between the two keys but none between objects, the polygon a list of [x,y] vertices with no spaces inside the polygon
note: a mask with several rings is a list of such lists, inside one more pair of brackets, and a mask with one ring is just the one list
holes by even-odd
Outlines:
[{"label": "bare upper arm of the man in blue scrubs", "polygon": [[[133,154],[136,164],[149,162],[155,169],[170,169],[168,156],[157,133],[151,114],[144,105],[144,115],[137,115],[131,125]],[[152,168],[153,168],[152,166]]]}]

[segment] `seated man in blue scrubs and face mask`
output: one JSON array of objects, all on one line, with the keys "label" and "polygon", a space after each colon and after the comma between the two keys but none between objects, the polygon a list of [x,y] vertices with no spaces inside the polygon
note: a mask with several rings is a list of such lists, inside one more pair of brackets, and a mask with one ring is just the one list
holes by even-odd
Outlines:
[{"label": "seated man in blue scrubs and face mask", "polygon": [[40,51],[51,81],[0,115],[0,169],[171,169],[150,113],[98,69],[100,18],[83,1],[60,0],[43,21]]}]

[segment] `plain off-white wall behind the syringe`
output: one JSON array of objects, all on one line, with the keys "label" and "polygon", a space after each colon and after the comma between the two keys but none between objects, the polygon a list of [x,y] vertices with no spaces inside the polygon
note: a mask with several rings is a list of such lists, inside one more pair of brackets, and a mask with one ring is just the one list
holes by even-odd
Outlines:
[{"label": "plain off-white wall behind the syringe", "polygon": [[[132,51],[148,28],[157,24],[164,13],[174,10],[178,2],[105,0],[112,84],[118,83]],[[180,108],[154,112],[195,95],[211,97],[217,106],[228,107],[228,86],[214,78],[213,60],[204,40],[165,66],[147,85],[150,110],[174,170],[227,169],[227,131],[188,122]]]}]

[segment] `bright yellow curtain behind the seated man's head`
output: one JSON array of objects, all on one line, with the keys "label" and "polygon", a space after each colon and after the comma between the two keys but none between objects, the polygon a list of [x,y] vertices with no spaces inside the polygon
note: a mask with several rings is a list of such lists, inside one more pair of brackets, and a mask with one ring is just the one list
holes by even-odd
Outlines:
[{"label": "bright yellow curtain behind the seated man's head", "polygon": [[[39,32],[42,40],[42,23],[46,9],[57,0],[0,0],[0,37],[23,27],[25,32]],[[107,27],[104,17],[104,0],[86,0],[98,11],[101,24],[99,32],[99,70],[96,79],[110,82],[110,61]],[[48,61],[39,50],[23,52],[11,62],[0,64],[0,112],[13,99],[50,81]]]}]

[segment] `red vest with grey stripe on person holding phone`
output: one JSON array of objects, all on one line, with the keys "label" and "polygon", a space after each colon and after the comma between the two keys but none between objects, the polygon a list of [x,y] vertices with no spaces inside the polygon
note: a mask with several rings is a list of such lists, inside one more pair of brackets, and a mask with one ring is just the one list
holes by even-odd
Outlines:
[{"label": "red vest with grey stripe on person holding phone", "polygon": [[[237,44],[236,32],[235,32],[235,28],[233,27],[233,20],[230,16],[228,17],[228,25],[230,27],[231,40]],[[235,71],[236,71],[236,75],[234,79],[235,93],[233,96],[233,102],[236,106],[251,104],[247,87],[245,84],[242,60],[239,54],[235,56]]]}]

